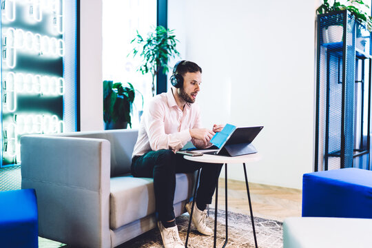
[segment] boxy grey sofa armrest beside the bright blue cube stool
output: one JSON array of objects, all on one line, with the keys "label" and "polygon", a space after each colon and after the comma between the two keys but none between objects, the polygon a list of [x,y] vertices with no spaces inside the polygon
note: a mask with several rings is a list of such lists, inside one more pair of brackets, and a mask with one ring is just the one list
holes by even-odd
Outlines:
[{"label": "boxy grey sofa armrest beside the bright blue cube stool", "polygon": [[21,137],[22,188],[34,188],[39,235],[78,247],[111,247],[110,142]]}]

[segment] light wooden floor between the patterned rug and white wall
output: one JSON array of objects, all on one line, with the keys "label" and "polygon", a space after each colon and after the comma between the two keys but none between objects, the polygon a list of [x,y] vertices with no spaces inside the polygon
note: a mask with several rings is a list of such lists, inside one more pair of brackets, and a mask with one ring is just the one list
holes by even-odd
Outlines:
[{"label": "light wooden floor between the patterned rug and white wall", "polygon": [[[240,214],[249,214],[245,182],[227,180],[227,209]],[[301,216],[302,192],[258,183],[249,183],[252,209],[255,217],[283,221],[290,216]],[[214,207],[214,201],[212,205]],[[218,208],[225,209],[225,179],[218,182]]]}]

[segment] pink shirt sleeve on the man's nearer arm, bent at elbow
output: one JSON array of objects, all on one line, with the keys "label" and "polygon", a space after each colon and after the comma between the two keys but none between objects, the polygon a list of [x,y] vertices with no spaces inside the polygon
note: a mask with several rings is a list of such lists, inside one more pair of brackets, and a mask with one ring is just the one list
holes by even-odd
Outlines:
[{"label": "pink shirt sleeve on the man's nearer arm, bent at elbow", "polygon": [[149,106],[145,118],[145,121],[147,122],[145,128],[149,136],[149,145],[153,151],[159,149],[172,149],[176,152],[191,140],[189,130],[166,134],[166,117],[164,105],[152,104]]}]

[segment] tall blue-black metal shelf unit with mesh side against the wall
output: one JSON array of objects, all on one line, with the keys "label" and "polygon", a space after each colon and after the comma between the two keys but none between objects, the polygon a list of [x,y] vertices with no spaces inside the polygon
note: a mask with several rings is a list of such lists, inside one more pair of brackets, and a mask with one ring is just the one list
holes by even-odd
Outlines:
[{"label": "tall blue-black metal shelf unit with mesh side against the wall", "polygon": [[370,169],[371,59],[350,12],[318,15],[315,171]]}]

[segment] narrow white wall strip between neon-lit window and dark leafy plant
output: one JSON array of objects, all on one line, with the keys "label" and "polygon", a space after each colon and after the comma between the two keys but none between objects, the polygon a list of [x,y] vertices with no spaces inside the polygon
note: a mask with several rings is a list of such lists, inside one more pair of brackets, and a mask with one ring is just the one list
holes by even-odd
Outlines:
[{"label": "narrow white wall strip between neon-lit window and dark leafy plant", "polygon": [[81,131],[103,130],[102,0],[80,0]]}]

